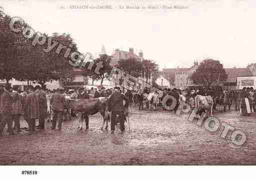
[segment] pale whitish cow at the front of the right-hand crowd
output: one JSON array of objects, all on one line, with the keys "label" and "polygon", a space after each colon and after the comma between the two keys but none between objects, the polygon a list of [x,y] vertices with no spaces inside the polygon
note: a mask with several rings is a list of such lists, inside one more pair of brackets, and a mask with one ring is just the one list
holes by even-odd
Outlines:
[{"label": "pale whitish cow at the front of the right-hand crowd", "polygon": [[202,113],[203,111],[210,112],[211,116],[213,116],[213,98],[212,96],[201,96],[197,95],[195,97],[195,107],[199,110],[199,113]]}]

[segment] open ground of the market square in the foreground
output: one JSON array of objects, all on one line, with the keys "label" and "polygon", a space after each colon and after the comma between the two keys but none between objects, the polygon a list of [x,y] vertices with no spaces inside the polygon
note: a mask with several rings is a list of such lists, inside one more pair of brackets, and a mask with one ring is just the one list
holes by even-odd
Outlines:
[{"label": "open ground of the market square in the foreground", "polygon": [[[187,120],[188,114],[170,111],[138,111],[131,115],[131,132],[101,131],[99,115],[90,117],[89,130],[77,131],[77,121],[65,121],[62,130],[46,129],[33,135],[0,137],[0,165],[255,165],[256,115],[240,116],[238,111],[217,113],[247,135],[238,147],[220,137],[223,129],[208,132]],[[27,124],[22,121],[21,126]],[[6,128],[5,128],[6,131]]]}]

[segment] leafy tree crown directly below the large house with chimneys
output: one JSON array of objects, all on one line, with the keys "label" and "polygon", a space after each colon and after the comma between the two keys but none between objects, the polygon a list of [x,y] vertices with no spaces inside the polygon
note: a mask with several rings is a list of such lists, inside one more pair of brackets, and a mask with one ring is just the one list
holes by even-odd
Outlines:
[{"label": "leafy tree crown directly below the large house with chimneys", "polygon": [[143,71],[142,62],[136,58],[121,59],[115,67],[134,77],[141,76]]}]

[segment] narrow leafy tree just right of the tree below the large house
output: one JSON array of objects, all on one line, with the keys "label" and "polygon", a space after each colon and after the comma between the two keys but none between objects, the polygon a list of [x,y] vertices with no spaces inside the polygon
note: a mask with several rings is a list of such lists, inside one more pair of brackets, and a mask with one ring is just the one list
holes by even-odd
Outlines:
[{"label": "narrow leafy tree just right of the tree below the large house", "polygon": [[145,75],[146,82],[148,83],[148,79],[151,77],[151,75],[158,72],[158,64],[156,64],[152,60],[142,60],[142,66],[143,66],[143,75]]}]

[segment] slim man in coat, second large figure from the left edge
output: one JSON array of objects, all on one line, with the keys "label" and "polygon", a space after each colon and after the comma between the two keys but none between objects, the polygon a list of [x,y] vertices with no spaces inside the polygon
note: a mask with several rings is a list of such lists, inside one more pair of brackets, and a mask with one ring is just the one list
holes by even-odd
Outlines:
[{"label": "slim man in coat, second large figure from the left edge", "polygon": [[22,109],[21,109],[21,96],[17,91],[18,91],[18,87],[17,86],[13,87],[13,90],[12,90],[12,117],[14,120],[16,132],[20,132],[19,119],[20,119],[20,115],[22,114]]}]

